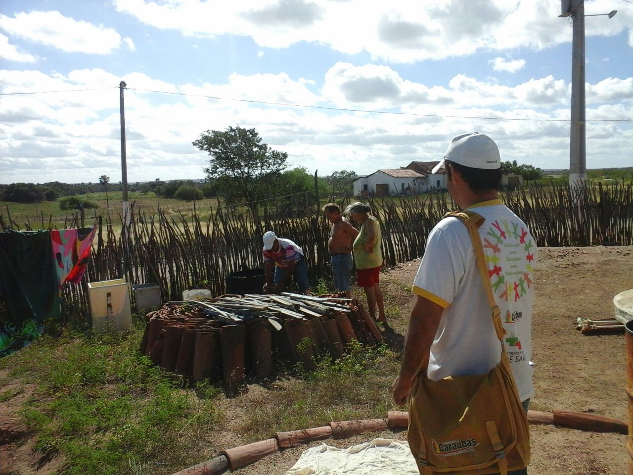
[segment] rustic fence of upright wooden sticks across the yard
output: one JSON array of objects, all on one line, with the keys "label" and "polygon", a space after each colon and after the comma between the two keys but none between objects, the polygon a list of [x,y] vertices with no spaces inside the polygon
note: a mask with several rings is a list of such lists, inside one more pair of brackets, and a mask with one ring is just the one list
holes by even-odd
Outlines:
[{"label": "rustic fence of upright wooden sticks across the yard", "polygon": [[[538,246],[633,244],[630,183],[599,183],[575,191],[553,183],[501,196],[530,227]],[[456,208],[444,193],[369,198],[368,202],[381,225],[386,265],[421,257],[432,227]],[[349,199],[337,203],[342,208]],[[327,277],[330,223],[323,217],[322,205],[323,201],[310,201],[306,195],[305,200],[271,200],[253,210],[220,207],[203,221],[191,210],[174,216],[162,209],[149,214],[133,207],[127,235],[125,229],[113,231],[122,229],[120,215],[99,216],[87,281],[125,274],[132,284],[158,283],[163,300],[180,300],[183,290],[203,282],[214,295],[221,295],[227,274],[262,267],[261,236],[269,229],[302,246],[311,277]],[[69,221],[76,223],[77,219]],[[6,227],[1,216],[0,224]],[[66,286],[63,296],[85,305],[86,287],[84,278],[81,284]]]}]

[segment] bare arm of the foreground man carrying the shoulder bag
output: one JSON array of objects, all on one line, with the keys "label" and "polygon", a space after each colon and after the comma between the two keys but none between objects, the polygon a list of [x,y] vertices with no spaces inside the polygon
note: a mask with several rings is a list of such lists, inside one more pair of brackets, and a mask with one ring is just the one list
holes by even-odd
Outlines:
[{"label": "bare arm of the foreground man carrying the shoulder bag", "polygon": [[403,405],[409,398],[415,373],[422,365],[429,364],[429,353],[433,339],[437,333],[439,320],[444,308],[429,299],[417,296],[411,317],[409,329],[404,340],[404,355],[400,374],[394,381],[392,388],[394,402]]}]

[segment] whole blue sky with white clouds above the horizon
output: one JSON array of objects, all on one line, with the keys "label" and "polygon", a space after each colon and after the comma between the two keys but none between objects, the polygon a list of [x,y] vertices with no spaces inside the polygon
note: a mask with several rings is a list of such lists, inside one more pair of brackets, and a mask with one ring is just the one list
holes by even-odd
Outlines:
[{"label": "whole blue sky with white clouds above the horizon", "polygon": [[[587,168],[633,166],[633,0],[587,0]],[[440,160],[569,168],[560,0],[3,0],[0,183],[202,179],[206,130],[254,128],[320,176]],[[120,89],[120,82],[127,84]]]}]

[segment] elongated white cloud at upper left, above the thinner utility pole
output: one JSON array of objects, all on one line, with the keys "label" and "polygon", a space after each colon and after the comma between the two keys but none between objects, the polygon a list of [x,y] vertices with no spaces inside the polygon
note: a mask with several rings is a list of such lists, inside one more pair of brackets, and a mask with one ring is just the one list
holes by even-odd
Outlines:
[{"label": "elongated white cloud at upper left, above the thinner utility pole", "polygon": [[0,28],[15,37],[68,53],[110,54],[121,44],[113,28],[73,20],[59,11],[22,12],[14,18],[0,15]]}]

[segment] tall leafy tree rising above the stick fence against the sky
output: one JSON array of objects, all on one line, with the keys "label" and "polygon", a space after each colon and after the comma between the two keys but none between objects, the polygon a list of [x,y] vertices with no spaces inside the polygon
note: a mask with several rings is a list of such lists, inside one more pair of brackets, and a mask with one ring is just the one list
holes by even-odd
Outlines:
[{"label": "tall leafy tree rising above the stick fence against the sky", "polygon": [[246,202],[254,210],[254,201],[276,194],[288,155],[261,143],[255,129],[207,130],[192,144],[211,155],[204,172],[228,202]]}]

